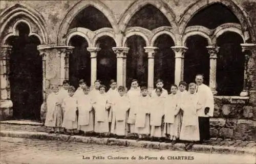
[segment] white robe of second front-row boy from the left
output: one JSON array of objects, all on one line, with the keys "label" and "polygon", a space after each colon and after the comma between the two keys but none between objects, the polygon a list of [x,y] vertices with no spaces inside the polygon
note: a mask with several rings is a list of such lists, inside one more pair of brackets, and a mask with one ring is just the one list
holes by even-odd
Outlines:
[{"label": "white robe of second front-row boy from the left", "polygon": [[66,129],[77,129],[77,116],[76,110],[78,107],[78,102],[76,97],[67,97],[62,103],[64,117],[62,127]]}]

